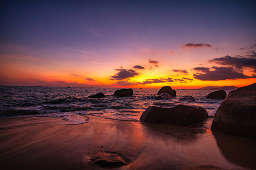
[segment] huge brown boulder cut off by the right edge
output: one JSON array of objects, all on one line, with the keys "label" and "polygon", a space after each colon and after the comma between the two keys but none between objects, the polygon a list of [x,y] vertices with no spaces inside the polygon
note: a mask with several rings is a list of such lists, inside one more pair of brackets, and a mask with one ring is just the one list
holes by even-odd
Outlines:
[{"label": "huge brown boulder cut off by the right edge", "polygon": [[256,83],[229,93],[216,111],[211,129],[256,138]]}]

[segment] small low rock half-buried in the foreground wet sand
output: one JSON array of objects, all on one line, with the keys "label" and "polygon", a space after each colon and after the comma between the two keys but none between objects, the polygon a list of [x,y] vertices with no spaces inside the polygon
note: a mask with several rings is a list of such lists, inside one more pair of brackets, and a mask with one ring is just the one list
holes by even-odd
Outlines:
[{"label": "small low rock half-buried in the foreground wet sand", "polygon": [[122,160],[121,157],[113,153],[104,152],[102,147],[99,148],[98,151],[91,156],[91,162],[107,166],[125,164],[125,161]]}]

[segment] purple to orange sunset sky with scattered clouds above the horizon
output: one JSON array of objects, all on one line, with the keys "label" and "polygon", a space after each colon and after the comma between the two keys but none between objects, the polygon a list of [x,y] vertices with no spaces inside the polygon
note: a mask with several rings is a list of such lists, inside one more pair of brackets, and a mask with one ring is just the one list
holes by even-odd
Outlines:
[{"label": "purple to orange sunset sky with scattered clouds above the horizon", "polygon": [[0,85],[250,85],[255,8],[255,0],[3,0]]}]

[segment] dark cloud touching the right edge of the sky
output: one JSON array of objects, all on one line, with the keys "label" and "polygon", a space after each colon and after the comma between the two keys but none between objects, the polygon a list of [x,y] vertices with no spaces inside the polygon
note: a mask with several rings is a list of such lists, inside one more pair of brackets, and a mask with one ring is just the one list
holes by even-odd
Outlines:
[{"label": "dark cloud touching the right edge of the sky", "polygon": [[246,57],[231,57],[227,55],[225,57],[211,59],[209,60],[209,62],[214,62],[220,65],[233,66],[239,70],[242,70],[244,68],[256,69],[256,52],[248,51],[245,56]]}]

